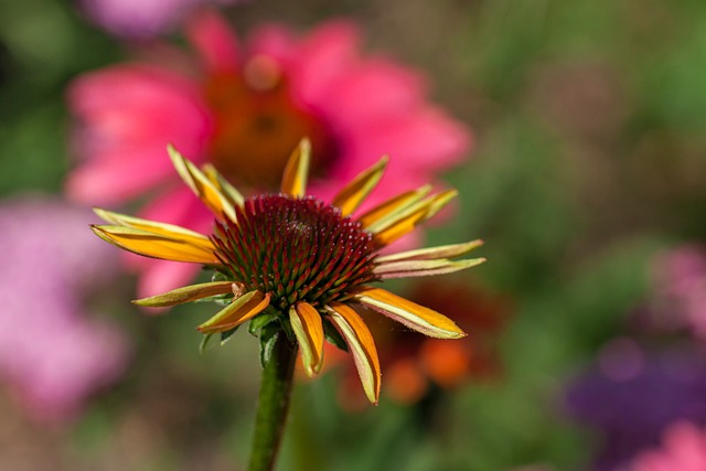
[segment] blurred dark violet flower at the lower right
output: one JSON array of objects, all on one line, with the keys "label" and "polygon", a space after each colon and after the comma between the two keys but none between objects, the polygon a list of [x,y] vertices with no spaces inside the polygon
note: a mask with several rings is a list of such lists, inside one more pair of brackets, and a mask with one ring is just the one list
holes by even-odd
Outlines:
[{"label": "blurred dark violet flower at the lower right", "polygon": [[706,352],[648,352],[631,339],[613,340],[598,365],[570,385],[567,405],[601,437],[595,469],[622,469],[675,420],[706,421]]}]

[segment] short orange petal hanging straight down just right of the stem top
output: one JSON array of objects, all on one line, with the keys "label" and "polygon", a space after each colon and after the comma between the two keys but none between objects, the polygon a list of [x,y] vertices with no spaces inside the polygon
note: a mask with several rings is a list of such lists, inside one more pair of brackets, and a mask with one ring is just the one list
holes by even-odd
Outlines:
[{"label": "short orange petal hanging straight down just right of the stem top", "polygon": [[321,314],[308,302],[289,308],[289,321],[301,347],[301,358],[307,375],[313,376],[323,364],[323,323]]}]

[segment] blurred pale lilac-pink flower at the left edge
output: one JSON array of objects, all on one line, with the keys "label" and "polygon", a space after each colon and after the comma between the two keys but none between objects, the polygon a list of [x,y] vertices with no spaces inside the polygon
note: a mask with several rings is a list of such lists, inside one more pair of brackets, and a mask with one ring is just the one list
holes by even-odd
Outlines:
[{"label": "blurred pale lilac-pink flower at the left edge", "polygon": [[121,332],[85,306],[116,275],[92,222],[89,211],[50,199],[0,203],[0,377],[39,420],[71,418],[126,366]]}]

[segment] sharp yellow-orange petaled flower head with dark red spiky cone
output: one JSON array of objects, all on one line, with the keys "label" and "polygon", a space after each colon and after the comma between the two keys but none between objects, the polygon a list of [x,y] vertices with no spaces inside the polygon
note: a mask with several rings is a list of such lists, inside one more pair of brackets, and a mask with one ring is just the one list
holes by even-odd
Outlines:
[{"label": "sharp yellow-orange petaled flower head with dark red spiky cone", "polygon": [[136,301],[168,307],[221,297],[227,302],[199,325],[206,335],[229,338],[244,322],[250,330],[279,324],[297,340],[309,376],[320,372],[324,338],[343,339],[353,354],[363,388],[377,403],[381,368],[373,338],[356,312],[381,312],[409,329],[438,339],[466,334],[450,319],[400,298],[374,281],[447,274],[475,266],[483,258],[452,260],[480,240],[393,255],[379,250],[434,216],[454,195],[428,195],[428,185],[402,193],[353,217],[383,175],[381,159],[345,185],[331,203],[307,195],[308,141],[289,159],[279,193],[244,197],[214,169],[200,170],[173,148],[176,171],[215,215],[210,236],[184,227],[130,217],[104,210],[111,225],[94,226],[105,240],[139,255],[205,265],[218,277]]}]

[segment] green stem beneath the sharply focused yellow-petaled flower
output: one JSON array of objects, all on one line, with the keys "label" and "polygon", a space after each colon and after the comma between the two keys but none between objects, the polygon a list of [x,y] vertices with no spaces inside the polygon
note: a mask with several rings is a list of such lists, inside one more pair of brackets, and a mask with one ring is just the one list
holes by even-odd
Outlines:
[{"label": "green stem beneath the sharply focused yellow-petaled flower", "polygon": [[248,471],[270,471],[287,422],[297,344],[280,333],[263,370]]}]

